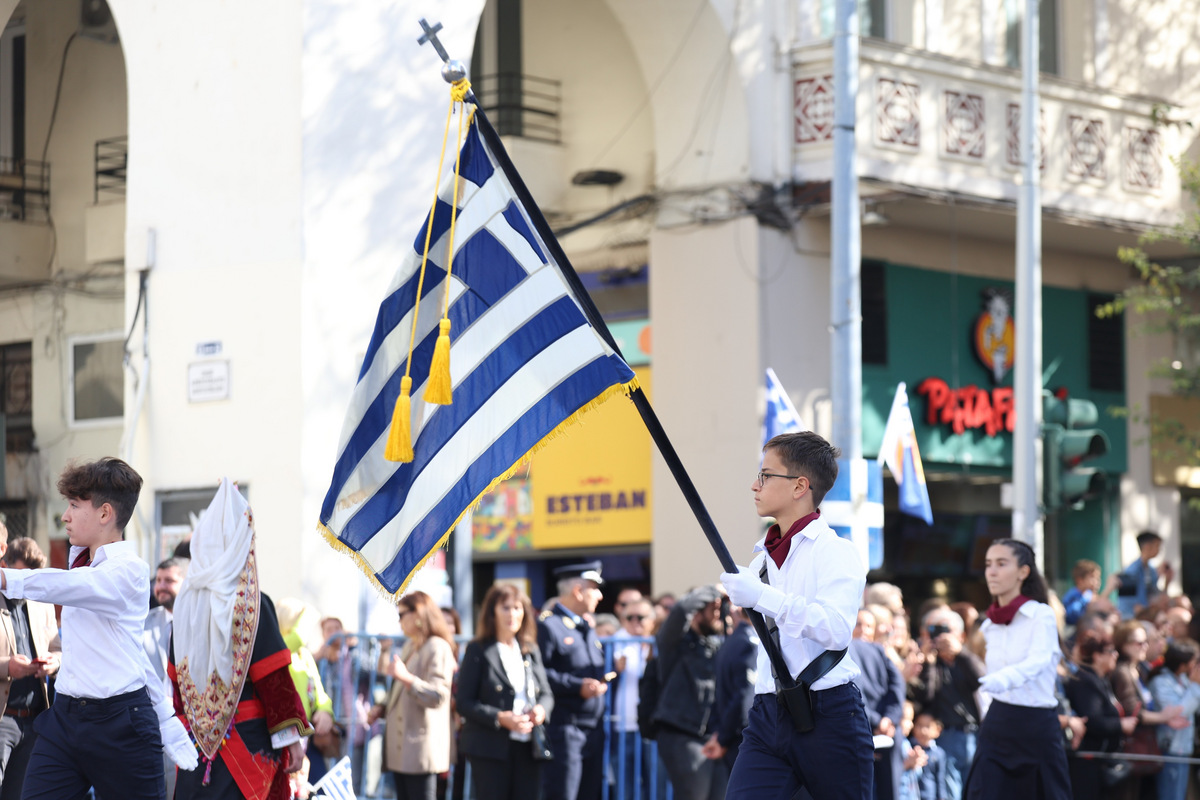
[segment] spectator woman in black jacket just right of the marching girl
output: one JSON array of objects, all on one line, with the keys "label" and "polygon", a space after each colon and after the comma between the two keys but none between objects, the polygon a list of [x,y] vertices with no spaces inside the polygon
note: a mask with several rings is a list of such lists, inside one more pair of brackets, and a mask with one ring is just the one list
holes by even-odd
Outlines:
[{"label": "spectator woman in black jacket just right of the marching girl", "polygon": [[[1084,631],[1080,636],[1079,672],[1073,679],[1067,680],[1064,686],[1070,708],[1076,715],[1087,720],[1084,741],[1079,748],[1116,752],[1138,724],[1138,717],[1121,716],[1121,706],[1109,684],[1109,674],[1117,666],[1117,649],[1106,631]],[[1078,800],[1115,796],[1121,790],[1121,784],[1129,777],[1126,776],[1117,783],[1106,786],[1103,772],[1111,769],[1112,766],[1104,760],[1072,758],[1072,794]]]}]

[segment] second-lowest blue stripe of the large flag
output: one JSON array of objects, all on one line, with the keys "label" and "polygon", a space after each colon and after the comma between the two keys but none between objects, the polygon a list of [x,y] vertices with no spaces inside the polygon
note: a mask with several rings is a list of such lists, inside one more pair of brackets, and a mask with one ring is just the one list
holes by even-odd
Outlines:
[{"label": "second-lowest blue stripe of the large flag", "polygon": [[355,512],[342,529],[342,537],[354,547],[361,547],[374,536],[376,531],[395,517],[404,505],[416,476],[467,420],[474,416],[521,367],[552,343],[586,324],[578,307],[570,297],[563,296],[505,337],[496,350],[490,353],[458,386],[455,386],[454,403],[442,407],[413,443],[413,461],[401,464],[374,497]]}]

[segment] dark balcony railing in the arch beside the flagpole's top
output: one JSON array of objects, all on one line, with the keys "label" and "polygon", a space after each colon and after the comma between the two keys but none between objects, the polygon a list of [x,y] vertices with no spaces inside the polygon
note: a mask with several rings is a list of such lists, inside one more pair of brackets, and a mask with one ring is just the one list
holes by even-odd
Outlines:
[{"label": "dark balcony railing in the arch beside the flagpole's top", "polygon": [[473,80],[475,97],[500,136],[559,144],[563,84],[516,73]]}]

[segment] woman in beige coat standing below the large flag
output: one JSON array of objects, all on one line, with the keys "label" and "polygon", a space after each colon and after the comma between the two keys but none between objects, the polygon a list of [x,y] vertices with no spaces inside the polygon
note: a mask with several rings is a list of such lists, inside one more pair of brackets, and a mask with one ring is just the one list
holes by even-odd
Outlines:
[{"label": "woman in beige coat standing below the large flag", "polygon": [[384,766],[397,800],[434,800],[437,776],[450,769],[450,685],[457,658],[442,610],[424,591],[400,599],[400,626],[408,642],[382,670],[392,678],[383,705]]}]

